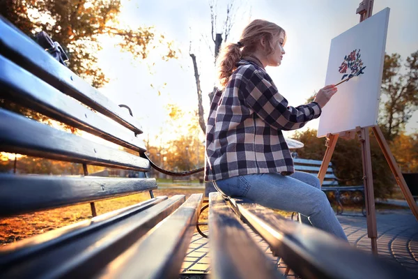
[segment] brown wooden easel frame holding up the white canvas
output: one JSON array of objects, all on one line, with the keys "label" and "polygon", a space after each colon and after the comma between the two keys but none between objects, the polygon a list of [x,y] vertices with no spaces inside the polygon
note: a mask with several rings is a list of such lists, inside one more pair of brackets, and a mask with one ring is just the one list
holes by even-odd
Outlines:
[{"label": "brown wooden easel frame holding up the white canvas", "polygon": [[[360,15],[360,22],[366,20],[366,18],[371,16],[373,10],[373,1],[374,0],[364,0],[362,3],[359,4],[359,8],[357,8],[356,13]],[[373,134],[378,140],[380,149],[382,149],[383,154],[385,155],[386,161],[389,164],[392,173],[395,176],[396,183],[401,188],[403,196],[408,202],[408,205],[414,214],[415,218],[418,220],[418,206],[411,195],[411,192],[408,186],[405,183],[405,179],[403,179],[401,169],[399,169],[392,152],[389,149],[389,145],[387,144],[385,137],[383,136],[382,130],[380,130],[379,126],[372,126],[371,129],[373,130]],[[363,164],[363,182],[364,182],[364,195],[365,195],[365,202],[366,202],[366,218],[367,218],[367,234],[371,239],[371,250],[373,254],[378,254],[378,245],[377,245],[377,237],[378,237],[378,230],[376,226],[376,208],[375,208],[375,199],[373,193],[373,174],[371,169],[371,149],[370,149],[370,137],[369,137],[369,127],[361,128],[357,127],[355,132],[359,139],[359,142],[362,146],[362,164]],[[346,132],[346,135],[353,136],[353,132]],[[322,185],[323,180],[325,178],[325,173],[327,172],[327,167],[330,164],[332,153],[334,152],[336,141],[338,140],[339,135],[327,135],[327,142],[325,146],[327,146],[327,150],[325,151],[325,156],[323,158],[323,163],[320,166],[320,170],[318,173],[318,179]]]}]

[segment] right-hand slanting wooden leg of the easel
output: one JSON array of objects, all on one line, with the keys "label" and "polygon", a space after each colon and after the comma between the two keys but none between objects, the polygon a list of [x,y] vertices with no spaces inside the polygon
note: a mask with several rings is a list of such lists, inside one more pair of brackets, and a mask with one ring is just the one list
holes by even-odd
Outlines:
[{"label": "right-hand slanting wooden leg of the easel", "polygon": [[382,149],[383,155],[385,155],[386,161],[389,164],[390,169],[392,169],[392,173],[395,176],[396,183],[398,183],[398,186],[401,188],[403,196],[405,197],[406,202],[408,202],[412,214],[414,214],[415,218],[418,220],[417,203],[415,202],[415,199],[412,197],[411,191],[406,185],[405,179],[403,179],[401,169],[399,169],[398,164],[396,163],[396,160],[389,149],[389,145],[387,144],[385,137],[383,136],[382,130],[380,130],[379,126],[373,126],[372,129],[376,137],[376,140],[378,140],[380,149]]}]

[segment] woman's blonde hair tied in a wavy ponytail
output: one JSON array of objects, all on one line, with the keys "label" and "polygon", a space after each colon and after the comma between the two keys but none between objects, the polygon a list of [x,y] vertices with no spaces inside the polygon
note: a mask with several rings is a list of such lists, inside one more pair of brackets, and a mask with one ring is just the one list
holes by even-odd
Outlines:
[{"label": "woman's blonde hair tied in a wavy ponytail", "polygon": [[[233,71],[237,68],[236,63],[240,61],[242,56],[250,56],[255,52],[257,43],[265,38],[267,40],[267,53],[274,51],[273,36],[284,33],[286,40],[286,32],[279,25],[266,20],[253,20],[242,31],[241,38],[238,43],[229,43],[222,47],[222,52],[217,58],[219,88],[224,89],[229,81]],[[241,50],[242,49],[242,50]]]}]

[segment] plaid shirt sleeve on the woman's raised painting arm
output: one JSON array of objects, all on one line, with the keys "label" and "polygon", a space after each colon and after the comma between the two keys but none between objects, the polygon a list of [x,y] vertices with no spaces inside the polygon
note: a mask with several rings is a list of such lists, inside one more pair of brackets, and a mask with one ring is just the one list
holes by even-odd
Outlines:
[{"label": "plaid shirt sleeve on the woman's raised painting arm", "polygon": [[241,84],[240,92],[245,104],[272,128],[295,130],[320,116],[322,111],[318,103],[290,107],[288,100],[281,96],[267,73],[261,70],[251,72],[244,74],[247,78]]}]

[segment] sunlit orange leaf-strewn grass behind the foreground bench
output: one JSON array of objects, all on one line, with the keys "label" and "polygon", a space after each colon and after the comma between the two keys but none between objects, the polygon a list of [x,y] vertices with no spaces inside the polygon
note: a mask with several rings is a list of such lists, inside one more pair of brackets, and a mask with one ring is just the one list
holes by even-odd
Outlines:
[{"label": "sunlit orange leaf-strewn grass behind the foreground bench", "polygon": [[[177,194],[186,195],[186,199],[194,193],[203,193],[204,189],[187,189],[187,188],[165,188],[154,190],[155,197],[167,195],[169,197]],[[116,199],[107,199],[101,202],[95,202],[98,215],[121,209],[125,206],[137,204],[149,199],[148,192],[127,197],[119,197]],[[203,204],[204,205],[204,204]],[[334,206],[334,205],[333,205]],[[392,206],[390,204],[376,204],[376,209],[405,209],[403,206]],[[335,210],[335,207],[334,207]],[[344,205],[344,212],[361,212],[361,205]],[[286,211],[277,211],[283,216],[289,216],[291,213]],[[3,218],[0,220],[0,245],[7,245],[26,239],[30,236],[42,234],[52,229],[77,223],[81,220],[91,218],[90,204],[79,204],[76,206],[67,206],[60,209],[52,209],[48,211],[40,211],[36,213],[28,213],[11,218]],[[199,222],[208,221],[208,210],[203,211],[199,218]],[[206,230],[207,226],[202,226],[201,230]]]}]

